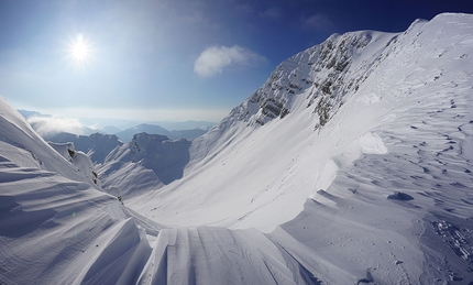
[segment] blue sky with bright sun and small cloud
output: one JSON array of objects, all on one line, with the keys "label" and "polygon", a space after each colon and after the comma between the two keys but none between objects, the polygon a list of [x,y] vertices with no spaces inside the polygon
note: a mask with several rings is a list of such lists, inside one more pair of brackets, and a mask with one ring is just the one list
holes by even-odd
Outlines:
[{"label": "blue sky with bright sun and small cloud", "polygon": [[400,32],[440,12],[473,2],[0,0],[0,95],[57,116],[217,122],[332,33]]}]

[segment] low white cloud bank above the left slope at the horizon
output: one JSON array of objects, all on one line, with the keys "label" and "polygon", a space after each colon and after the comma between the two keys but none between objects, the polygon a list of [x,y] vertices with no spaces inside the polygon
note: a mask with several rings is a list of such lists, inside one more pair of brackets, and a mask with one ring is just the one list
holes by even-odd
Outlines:
[{"label": "low white cloud bank above the left slope at the horizon", "polygon": [[85,129],[78,119],[73,118],[30,117],[28,122],[42,136],[59,132],[82,134]]}]

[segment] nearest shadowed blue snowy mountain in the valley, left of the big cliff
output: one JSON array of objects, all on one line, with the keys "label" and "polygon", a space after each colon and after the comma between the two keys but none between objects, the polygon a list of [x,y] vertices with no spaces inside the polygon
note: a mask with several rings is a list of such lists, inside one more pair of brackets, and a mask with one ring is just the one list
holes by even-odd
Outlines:
[{"label": "nearest shadowed blue snowy mountain in the valley, left of the big cliff", "polygon": [[138,195],[183,176],[189,162],[190,142],[170,141],[165,135],[139,133],[130,143],[116,147],[98,166],[103,186],[118,195]]}]

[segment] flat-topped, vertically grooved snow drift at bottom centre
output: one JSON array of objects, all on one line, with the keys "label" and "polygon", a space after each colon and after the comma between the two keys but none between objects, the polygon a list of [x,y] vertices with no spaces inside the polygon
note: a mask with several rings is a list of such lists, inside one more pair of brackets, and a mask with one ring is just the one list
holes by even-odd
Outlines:
[{"label": "flat-topped, vertically grooved snow drift at bottom centre", "polygon": [[[202,259],[202,256],[206,256]],[[198,227],[163,230],[142,284],[305,284],[310,273],[262,232]]]}]

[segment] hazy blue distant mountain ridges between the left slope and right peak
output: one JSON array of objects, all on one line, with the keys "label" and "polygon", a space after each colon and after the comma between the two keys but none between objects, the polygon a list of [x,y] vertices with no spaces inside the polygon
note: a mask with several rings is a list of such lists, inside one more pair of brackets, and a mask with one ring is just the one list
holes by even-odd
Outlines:
[{"label": "hazy blue distant mountain ridges between the left slope and right peak", "polygon": [[[79,168],[94,168],[87,176],[102,182],[106,191],[114,196],[136,196],[169,184],[183,176],[189,162],[189,141],[172,141],[160,134],[138,133],[129,143],[114,134],[101,133],[58,133],[50,139],[54,141],[50,144],[73,163],[87,154],[95,165],[82,160]],[[76,160],[68,156],[69,150],[78,154]]]}]

